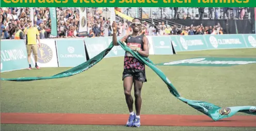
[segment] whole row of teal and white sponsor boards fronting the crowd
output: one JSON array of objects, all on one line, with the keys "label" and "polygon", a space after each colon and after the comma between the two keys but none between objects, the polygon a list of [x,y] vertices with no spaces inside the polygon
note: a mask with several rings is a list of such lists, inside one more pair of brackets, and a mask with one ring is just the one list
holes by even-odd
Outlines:
[{"label": "whole row of teal and white sponsor boards fronting the crowd", "polygon": [[[186,51],[256,47],[255,34],[147,37],[150,55],[173,55]],[[111,42],[112,37],[42,39],[41,48],[38,48],[38,65],[40,67],[75,67],[98,55]],[[106,58],[124,56],[124,53],[120,46],[115,46]],[[34,56],[32,55],[32,57]],[[35,67],[34,58],[31,58],[31,61],[31,65]],[[28,62],[25,41],[1,40],[1,72],[26,68],[28,68]]]}]

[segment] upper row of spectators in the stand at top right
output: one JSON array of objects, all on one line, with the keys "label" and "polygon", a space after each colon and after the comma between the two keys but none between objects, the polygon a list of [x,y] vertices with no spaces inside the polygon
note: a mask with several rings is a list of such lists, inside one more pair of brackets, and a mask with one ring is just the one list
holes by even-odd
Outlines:
[{"label": "upper row of spectators in the stand at top right", "polygon": [[[248,7],[200,7],[200,8],[161,8],[166,19],[233,19],[244,20],[254,17],[254,8]],[[167,13],[170,12],[170,13]],[[198,14],[198,15],[196,15]]]}]

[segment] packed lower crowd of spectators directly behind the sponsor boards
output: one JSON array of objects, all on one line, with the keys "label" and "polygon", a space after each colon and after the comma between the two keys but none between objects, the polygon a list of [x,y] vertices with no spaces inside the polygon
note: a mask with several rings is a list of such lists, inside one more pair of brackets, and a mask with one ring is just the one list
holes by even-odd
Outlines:
[{"label": "packed lower crowd of spectators directly behind the sponsor boards", "polygon": [[[30,14],[33,12],[33,14]],[[71,8],[57,8],[57,31],[58,36],[51,35],[51,17],[49,8],[1,8],[1,39],[14,39],[15,32],[27,27],[30,16],[34,15],[34,27],[40,32],[40,39],[47,38],[70,38],[84,37],[79,32],[79,10]],[[132,32],[131,22],[119,20],[118,36],[129,35]],[[110,18],[102,16],[102,10],[93,8],[87,10],[87,37],[107,37],[111,36]],[[145,35],[161,36],[161,35],[204,35],[204,34],[227,34],[220,25],[203,26],[191,25],[187,27],[170,26],[165,23],[156,23],[149,25],[142,21],[142,31]]]}]

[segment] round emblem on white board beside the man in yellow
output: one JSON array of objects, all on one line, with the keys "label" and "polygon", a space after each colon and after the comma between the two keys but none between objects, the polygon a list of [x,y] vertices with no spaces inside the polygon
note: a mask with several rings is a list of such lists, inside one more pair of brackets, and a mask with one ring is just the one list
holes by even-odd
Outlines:
[{"label": "round emblem on white board beside the man in yellow", "polygon": [[41,47],[38,48],[37,58],[39,63],[47,63],[51,61],[53,58],[52,48],[47,44],[41,43]]}]

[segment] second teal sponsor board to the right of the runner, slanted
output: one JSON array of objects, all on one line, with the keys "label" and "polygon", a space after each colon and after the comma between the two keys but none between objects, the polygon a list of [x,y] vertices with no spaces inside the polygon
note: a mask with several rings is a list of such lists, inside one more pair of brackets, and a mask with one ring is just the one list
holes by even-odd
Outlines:
[{"label": "second teal sponsor board to the right of the runner, slanted", "polygon": [[207,50],[207,43],[202,35],[196,36],[177,36],[182,51]]}]

